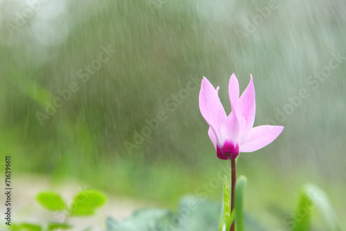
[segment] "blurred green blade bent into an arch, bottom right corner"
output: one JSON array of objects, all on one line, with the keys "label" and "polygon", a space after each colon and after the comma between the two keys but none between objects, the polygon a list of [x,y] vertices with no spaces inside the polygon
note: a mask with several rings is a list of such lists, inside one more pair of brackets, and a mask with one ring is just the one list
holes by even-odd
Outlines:
[{"label": "blurred green blade bent into an arch, bottom right corner", "polygon": [[295,209],[295,216],[292,224],[292,231],[306,231],[311,225],[313,210],[317,207],[331,231],[340,231],[340,223],[336,213],[331,207],[329,198],[316,185],[305,185],[298,200]]}]

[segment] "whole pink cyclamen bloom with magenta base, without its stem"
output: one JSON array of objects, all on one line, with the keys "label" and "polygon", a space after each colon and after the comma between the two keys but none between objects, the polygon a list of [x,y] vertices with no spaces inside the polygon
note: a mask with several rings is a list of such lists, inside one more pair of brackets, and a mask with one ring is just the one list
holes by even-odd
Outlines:
[{"label": "whole pink cyclamen bloom with magenta base, without its stem", "polygon": [[253,76],[239,98],[239,82],[233,73],[230,77],[228,94],[231,113],[227,116],[217,89],[203,77],[199,93],[199,109],[210,128],[208,135],[222,160],[234,159],[239,151],[251,152],[262,149],[280,135],[284,127],[262,125],[253,127],[255,121],[255,88]]}]

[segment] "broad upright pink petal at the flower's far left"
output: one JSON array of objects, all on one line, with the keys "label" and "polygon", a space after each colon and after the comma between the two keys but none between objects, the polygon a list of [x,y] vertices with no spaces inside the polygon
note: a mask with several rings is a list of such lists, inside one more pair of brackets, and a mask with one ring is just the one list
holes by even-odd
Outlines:
[{"label": "broad upright pink petal at the flower's far left", "polygon": [[209,126],[212,127],[214,133],[219,131],[221,124],[227,118],[225,109],[217,94],[217,89],[204,76],[201,83],[201,91],[199,92],[199,110]]}]

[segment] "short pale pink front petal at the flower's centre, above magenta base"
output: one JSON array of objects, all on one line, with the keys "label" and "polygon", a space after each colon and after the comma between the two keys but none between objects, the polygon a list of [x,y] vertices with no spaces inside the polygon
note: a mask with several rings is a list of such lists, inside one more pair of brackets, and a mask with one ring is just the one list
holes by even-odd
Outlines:
[{"label": "short pale pink front petal at the flower's centre, above magenta base", "polygon": [[220,128],[221,142],[232,141],[233,145],[237,144],[239,136],[239,120],[236,111],[232,111],[226,118]]}]

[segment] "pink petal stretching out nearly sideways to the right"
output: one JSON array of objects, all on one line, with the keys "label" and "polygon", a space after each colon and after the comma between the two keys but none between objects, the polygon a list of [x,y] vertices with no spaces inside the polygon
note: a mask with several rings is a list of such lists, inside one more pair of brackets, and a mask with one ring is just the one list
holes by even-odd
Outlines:
[{"label": "pink petal stretching out nearly sideways to the right", "polygon": [[253,127],[248,135],[244,138],[239,145],[242,152],[251,152],[258,149],[262,149],[266,145],[269,145],[273,140],[280,135],[284,127],[262,125],[259,127]]}]

